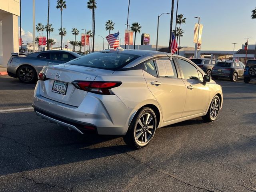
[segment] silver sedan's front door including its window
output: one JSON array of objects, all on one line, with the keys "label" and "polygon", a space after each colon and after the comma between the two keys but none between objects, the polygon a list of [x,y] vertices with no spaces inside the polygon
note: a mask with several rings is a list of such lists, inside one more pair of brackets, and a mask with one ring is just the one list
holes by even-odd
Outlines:
[{"label": "silver sedan's front door including its window", "polygon": [[206,112],[210,101],[210,89],[203,83],[203,74],[187,60],[177,60],[186,86],[186,103],[182,117]]}]

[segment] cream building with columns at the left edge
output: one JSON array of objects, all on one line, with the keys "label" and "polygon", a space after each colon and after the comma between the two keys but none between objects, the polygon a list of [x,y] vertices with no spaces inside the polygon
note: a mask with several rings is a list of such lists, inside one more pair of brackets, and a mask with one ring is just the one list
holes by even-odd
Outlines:
[{"label": "cream building with columns at the left edge", "polygon": [[18,16],[20,0],[1,0],[0,3],[0,65],[6,67],[10,52],[19,52]]}]

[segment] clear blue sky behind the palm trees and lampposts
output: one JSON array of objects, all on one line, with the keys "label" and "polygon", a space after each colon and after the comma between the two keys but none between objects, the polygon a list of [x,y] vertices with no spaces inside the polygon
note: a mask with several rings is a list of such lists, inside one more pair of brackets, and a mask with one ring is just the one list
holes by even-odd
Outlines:
[{"label": "clear blue sky behind the palm trees and lampposts", "polygon": [[[67,35],[64,42],[74,40],[72,28],[91,29],[91,11],[87,8],[88,0],[66,0],[67,8],[63,10],[63,27]],[[124,30],[126,29],[128,0],[96,0],[95,10],[95,49],[102,49],[101,36],[107,36],[105,22],[112,20],[114,32],[120,32],[122,44],[124,44]],[[174,18],[176,14],[176,2]],[[194,47],[194,24],[200,17],[200,23],[204,25],[202,32],[202,50],[233,50],[233,42],[236,42],[235,50],[244,44],[244,37],[252,37],[248,44],[254,44],[256,40],[256,20],[250,18],[251,10],[256,7],[256,0],[179,0],[178,14],[184,14],[186,24],[182,24],[184,36],[180,39],[180,46]],[[36,24],[47,24],[48,0],[36,0]],[[140,44],[142,33],[150,34],[150,44],[156,44],[157,17],[163,12],[171,12],[171,0],[130,0],[129,24],[138,22],[142,26],[140,34],[137,34],[136,44]],[[60,10],[56,9],[56,0],[50,0],[50,24],[55,29],[51,38],[60,42],[58,29],[61,26]],[[174,20],[175,21],[175,20]],[[175,23],[174,23],[175,25]],[[173,26],[173,29],[175,26]],[[22,29],[24,30],[23,42],[32,38],[32,0],[22,0]],[[80,39],[80,34],[77,39]],[[36,32],[36,36],[39,34]],[[46,35],[46,32],[45,32]],[[170,15],[163,14],[159,22],[158,45],[167,46],[170,35]],[[105,47],[107,46],[105,40]]]}]

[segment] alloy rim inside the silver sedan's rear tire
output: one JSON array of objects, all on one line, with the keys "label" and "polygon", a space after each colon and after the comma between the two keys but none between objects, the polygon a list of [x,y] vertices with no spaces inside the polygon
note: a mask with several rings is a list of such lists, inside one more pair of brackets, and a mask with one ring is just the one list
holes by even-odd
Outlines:
[{"label": "alloy rim inside the silver sedan's rear tire", "polygon": [[143,114],[137,122],[134,136],[139,144],[146,144],[154,135],[155,121],[151,114]]}]

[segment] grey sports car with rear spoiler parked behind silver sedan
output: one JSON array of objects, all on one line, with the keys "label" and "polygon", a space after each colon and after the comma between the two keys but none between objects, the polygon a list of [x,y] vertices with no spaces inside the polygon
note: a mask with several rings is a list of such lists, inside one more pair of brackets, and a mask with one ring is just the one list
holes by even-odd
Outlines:
[{"label": "grey sports car with rear spoiler parked behind silver sedan", "polygon": [[80,57],[71,51],[40,51],[30,54],[12,52],[7,64],[8,75],[23,83],[35,82],[43,66],[58,65]]}]

